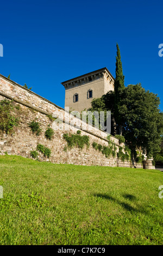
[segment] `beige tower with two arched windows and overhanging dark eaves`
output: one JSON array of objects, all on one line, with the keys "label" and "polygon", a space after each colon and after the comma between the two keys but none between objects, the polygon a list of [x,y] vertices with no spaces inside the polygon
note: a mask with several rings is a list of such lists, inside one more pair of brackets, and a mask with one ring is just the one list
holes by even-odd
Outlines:
[{"label": "beige tower with two arched windows and overhanging dark eaves", "polygon": [[114,90],[114,77],[107,68],[62,82],[65,87],[65,107],[83,111],[91,107],[91,101]]}]

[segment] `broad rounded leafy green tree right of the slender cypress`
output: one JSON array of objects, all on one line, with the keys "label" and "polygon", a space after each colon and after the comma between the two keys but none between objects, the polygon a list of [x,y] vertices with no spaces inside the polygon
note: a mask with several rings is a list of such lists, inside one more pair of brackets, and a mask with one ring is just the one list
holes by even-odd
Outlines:
[{"label": "broad rounded leafy green tree right of the slender cypress", "polygon": [[148,157],[160,150],[163,115],[160,99],[141,84],[129,84],[121,92],[121,125],[131,148],[141,147]]}]

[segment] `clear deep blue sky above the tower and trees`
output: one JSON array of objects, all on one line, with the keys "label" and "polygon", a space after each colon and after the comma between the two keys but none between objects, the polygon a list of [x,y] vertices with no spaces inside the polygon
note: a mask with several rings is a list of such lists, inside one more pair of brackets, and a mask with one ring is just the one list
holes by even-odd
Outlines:
[{"label": "clear deep blue sky above the tower and trees", "polygon": [[60,84],[96,69],[115,76],[116,42],[125,85],[158,94],[163,110],[162,1],[1,1],[0,74],[64,107]]}]

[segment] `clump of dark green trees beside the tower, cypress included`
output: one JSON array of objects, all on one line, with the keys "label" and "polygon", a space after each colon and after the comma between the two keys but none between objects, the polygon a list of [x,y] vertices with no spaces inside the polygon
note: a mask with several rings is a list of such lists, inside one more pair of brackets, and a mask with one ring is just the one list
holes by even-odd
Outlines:
[{"label": "clump of dark green trees beside the tower, cypress included", "polygon": [[117,45],[115,90],[93,99],[90,111],[111,111],[111,134],[121,128],[130,148],[141,148],[148,157],[159,152],[163,113],[157,94],[145,90],[141,84],[124,86],[120,49]]}]

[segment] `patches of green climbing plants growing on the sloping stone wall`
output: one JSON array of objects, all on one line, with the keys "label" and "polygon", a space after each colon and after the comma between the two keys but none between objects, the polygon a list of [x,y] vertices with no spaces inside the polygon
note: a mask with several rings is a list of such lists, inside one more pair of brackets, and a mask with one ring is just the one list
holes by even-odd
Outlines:
[{"label": "patches of green climbing plants growing on the sloping stone wall", "polygon": [[[9,133],[14,126],[18,125],[18,118],[15,117],[13,113],[14,108],[18,111],[20,109],[19,105],[14,105],[12,101],[10,100],[3,100],[0,101],[0,130]],[[42,131],[40,124],[33,120],[29,124],[30,129],[33,133],[35,133],[37,136],[40,135],[40,132]],[[53,129],[51,129],[48,125],[47,130],[45,131],[45,137],[49,140],[52,139],[52,136],[54,135]],[[81,131],[78,130],[76,134],[68,134],[65,133],[63,135],[63,138],[67,142],[67,147],[64,147],[64,151],[66,152],[67,149],[72,149],[74,147],[77,147],[79,149],[83,149],[86,145],[87,148],[90,147],[90,138],[87,135],[81,135]],[[121,138],[119,138],[120,140]],[[101,152],[105,157],[116,157],[116,150],[117,147],[114,142],[111,141],[110,136],[108,136],[108,146],[103,146],[101,144],[98,144],[96,142],[92,143],[92,147],[99,152]],[[42,144],[38,144],[36,150],[30,151],[30,155],[36,159],[38,154],[42,153],[45,157],[51,156],[51,149],[45,147]],[[124,153],[123,148],[119,147],[119,152],[117,153],[118,159],[121,159],[122,161],[129,160],[130,159],[130,149],[128,147],[125,147]],[[137,156],[137,162],[141,162],[142,159],[140,159],[140,156]]]}]

